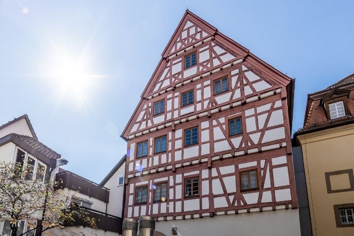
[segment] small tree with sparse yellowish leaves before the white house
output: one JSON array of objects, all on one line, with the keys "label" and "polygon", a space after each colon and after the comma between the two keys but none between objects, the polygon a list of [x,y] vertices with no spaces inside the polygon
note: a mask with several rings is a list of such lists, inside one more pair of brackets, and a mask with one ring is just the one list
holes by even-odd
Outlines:
[{"label": "small tree with sparse yellowish leaves before the white house", "polygon": [[[45,169],[37,170],[33,180],[33,168],[23,164],[0,162],[0,220],[7,219],[7,234],[11,236],[52,234],[56,228],[75,233],[67,227],[76,220],[95,228],[95,219],[84,209],[72,203],[75,194],[55,191],[57,182],[43,181]],[[23,232],[24,222],[27,231]],[[19,230],[20,229],[20,230]],[[22,231],[21,231],[22,229]]]}]

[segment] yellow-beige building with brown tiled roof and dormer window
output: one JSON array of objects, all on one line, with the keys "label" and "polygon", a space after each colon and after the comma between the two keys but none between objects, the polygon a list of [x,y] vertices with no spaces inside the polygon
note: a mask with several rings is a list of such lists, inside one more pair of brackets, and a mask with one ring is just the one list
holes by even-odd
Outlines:
[{"label": "yellow-beige building with brown tiled roof and dormer window", "polygon": [[[352,114],[354,74],[307,96],[303,128],[293,137],[294,160],[303,161],[313,235],[354,234]],[[300,215],[300,221],[306,220]]]}]

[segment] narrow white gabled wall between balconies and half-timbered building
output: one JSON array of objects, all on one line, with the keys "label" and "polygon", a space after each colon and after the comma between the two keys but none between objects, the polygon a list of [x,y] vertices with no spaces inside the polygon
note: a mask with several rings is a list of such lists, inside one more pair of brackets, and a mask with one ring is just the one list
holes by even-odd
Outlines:
[{"label": "narrow white gabled wall between balconies and half-timbered building", "polygon": [[118,186],[118,177],[125,174],[125,162],[119,167],[119,169],[113,174],[113,176],[106,182],[104,187],[109,188],[109,202],[107,213],[122,217],[122,205],[123,205],[123,191],[124,185]]}]

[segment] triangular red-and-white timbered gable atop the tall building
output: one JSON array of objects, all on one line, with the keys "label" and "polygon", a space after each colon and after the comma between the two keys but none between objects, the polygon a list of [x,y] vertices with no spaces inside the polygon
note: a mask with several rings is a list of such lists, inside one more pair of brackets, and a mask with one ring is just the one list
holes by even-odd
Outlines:
[{"label": "triangular red-and-white timbered gable atop the tall building", "polygon": [[[196,65],[186,68],[186,57],[191,53],[195,54]],[[229,91],[216,95],[214,80],[222,77],[228,77]],[[293,80],[187,11],[122,136],[131,138],[148,133],[192,112],[203,113],[229,103],[245,103],[281,87],[285,88],[283,96],[289,103],[291,121]],[[193,108],[182,108],[181,97],[186,90],[195,93]],[[161,100],[164,112],[154,115],[154,103]]]}]

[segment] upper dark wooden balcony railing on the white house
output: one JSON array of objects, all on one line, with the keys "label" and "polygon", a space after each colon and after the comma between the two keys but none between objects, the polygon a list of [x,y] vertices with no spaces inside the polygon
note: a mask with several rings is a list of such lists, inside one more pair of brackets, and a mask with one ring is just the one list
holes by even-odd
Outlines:
[{"label": "upper dark wooden balcony railing on the white house", "polygon": [[57,188],[67,187],[69,190],[77,191],[86,196],[108,203],[109,188],[103,187],[89,179],[85,179],[70,171],[64,171],[57,174],[56,181],[58,182]]}]

